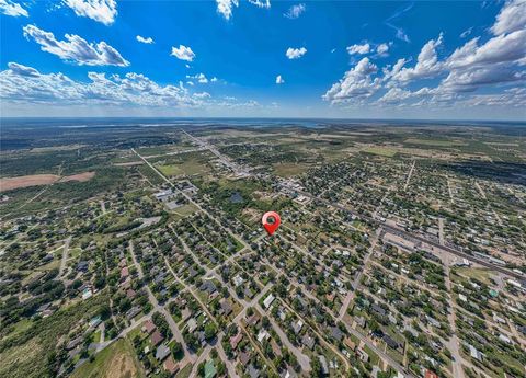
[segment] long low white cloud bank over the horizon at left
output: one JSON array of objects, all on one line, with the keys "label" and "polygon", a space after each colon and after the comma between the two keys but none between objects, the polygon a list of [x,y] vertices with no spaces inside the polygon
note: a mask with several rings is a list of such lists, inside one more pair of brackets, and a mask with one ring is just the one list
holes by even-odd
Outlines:
[{"label": "long low white cloud bank over the horizon at left", "polygon": [[9,64],[0,72],[0,99],[18,103],[55,105],[106,104],[144,106],[201,106],[203,93],[192,94],[182,83],[160,85],[141,73],[106,77],[89,72],[88,81],[77,81],[58,73],[41,73],[38,70]]}]

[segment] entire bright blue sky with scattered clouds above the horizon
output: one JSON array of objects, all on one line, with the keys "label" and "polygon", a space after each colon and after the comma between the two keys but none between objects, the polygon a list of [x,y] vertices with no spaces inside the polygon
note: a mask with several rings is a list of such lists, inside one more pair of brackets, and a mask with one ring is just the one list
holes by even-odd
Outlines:
[{"label": "entire bright blue sky with scattered clouds above the horizon", "polygon": [[0,0],[2,116],[526,117],[526,1]]}]

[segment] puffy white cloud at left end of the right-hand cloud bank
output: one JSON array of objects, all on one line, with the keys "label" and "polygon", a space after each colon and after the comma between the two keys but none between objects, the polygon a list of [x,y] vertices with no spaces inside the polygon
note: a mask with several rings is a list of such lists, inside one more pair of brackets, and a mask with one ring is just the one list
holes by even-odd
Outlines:
[{"label": "puffy white cloud at left end of the right-hand cloud bank", "polygon": [[345,72],[344,77],[334,83],[322,99],[336,104],[351,99],[370,98],[381,88],[381,80],[371,78],[377,70],[378,68],[369,61],[369,58],[363,58],[354,68]]}]

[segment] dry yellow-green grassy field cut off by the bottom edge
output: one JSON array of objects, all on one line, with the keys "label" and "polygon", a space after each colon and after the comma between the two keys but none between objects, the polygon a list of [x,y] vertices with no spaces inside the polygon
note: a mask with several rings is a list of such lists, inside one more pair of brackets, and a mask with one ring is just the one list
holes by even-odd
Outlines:
[{"label": "dry yellow-green grassy field cut off by the bottom edge", "polygon": [[73,371],[73,378],[133,378],[145,377],[145,371],[127,339],[122,339],[102,352],[93,363],[87,362]]}]

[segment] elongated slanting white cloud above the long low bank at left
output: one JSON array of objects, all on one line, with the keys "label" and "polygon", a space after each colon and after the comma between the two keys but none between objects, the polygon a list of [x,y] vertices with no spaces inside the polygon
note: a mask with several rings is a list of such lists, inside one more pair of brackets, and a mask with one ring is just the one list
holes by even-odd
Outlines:
[{"label": "elongated slanting white cloud above the long low bank at left", "polygon": [[43,51],[54,54],[62,60],[79,66],[129,66],[129,61],[104,41],[98,44],[88,43],[75,34],[66,34],[67,41],[57,41],[53,33],[45,32],[35,25],[26,25],[23,31],[24,36],[27,39],[33,38],[41,45]]}]

